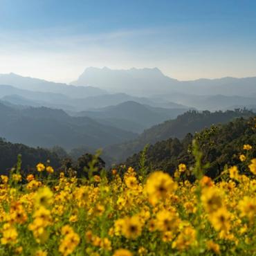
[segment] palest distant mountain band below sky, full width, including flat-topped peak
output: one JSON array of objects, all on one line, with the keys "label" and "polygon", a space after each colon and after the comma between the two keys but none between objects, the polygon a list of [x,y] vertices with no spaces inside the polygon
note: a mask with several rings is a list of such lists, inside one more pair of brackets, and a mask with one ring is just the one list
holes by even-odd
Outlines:
[{"label": "palest distant mountain band below sky, full width, including flat-topped peak", "polygon": [[168,109],[254,109],[256,99],[256,77],[179,81],[163,75],[158,68],[86,68],[71,84],[2,74],[0,98],[8,96],[3,100],[71,112],[127,101]]}]

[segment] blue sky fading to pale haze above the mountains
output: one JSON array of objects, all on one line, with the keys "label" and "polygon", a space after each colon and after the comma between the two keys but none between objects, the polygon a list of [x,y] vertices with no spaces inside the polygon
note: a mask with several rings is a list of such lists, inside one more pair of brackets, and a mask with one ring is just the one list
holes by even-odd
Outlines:
[{"label": "blue sky fading to pale haze above the mountains", "polygon": [[0,73],[68,83],[89,66],[256,76],[256,1],[0,0]]}]

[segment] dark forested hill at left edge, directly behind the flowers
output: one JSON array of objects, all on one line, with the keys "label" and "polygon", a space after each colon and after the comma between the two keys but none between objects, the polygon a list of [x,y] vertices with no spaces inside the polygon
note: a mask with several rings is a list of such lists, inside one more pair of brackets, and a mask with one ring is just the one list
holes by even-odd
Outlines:
[{"label": "dark forested hill at left edge, directly behind the flowers", "polygon": [[17,156],[21,154],[22,169],[26,172],[34,168],[37,163],[50,161],[53,167],[60,167],[60,158],[57,154],[40,147],[33,148],[23,144],[9,143],[0,138],[0,173],[6,174],[7,169],[17,163]]}]

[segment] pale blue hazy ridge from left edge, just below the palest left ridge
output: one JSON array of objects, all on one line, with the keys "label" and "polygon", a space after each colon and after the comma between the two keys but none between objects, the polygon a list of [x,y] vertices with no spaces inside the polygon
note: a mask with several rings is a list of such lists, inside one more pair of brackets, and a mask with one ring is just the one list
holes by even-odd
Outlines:
[{"label": "pale blue hazy ridge from left edge, just below the palest left ridge", "polygon": [[[84,88],[86,89],[87,87]],[[51,91],[30,91],[27,89],[19,89],[15,86],[6,84],[0,84],[0,99],[8,101],[12,104],[21,104],[33,107],[51,107],[64,109],[66,111],[83,111],[86,109],[102,108],[127,101],[135,101],[141,104],[148,104],[152,107],[166,107],[170,109],[189,108],[183,104],[176,104],[175,102],[169,102],[168,100],[136,97],[126,93],[107,93],[94,96],[88,96],[87,93],[81,93],[80,98],[73,98],[62,93],[53,93]]]}]

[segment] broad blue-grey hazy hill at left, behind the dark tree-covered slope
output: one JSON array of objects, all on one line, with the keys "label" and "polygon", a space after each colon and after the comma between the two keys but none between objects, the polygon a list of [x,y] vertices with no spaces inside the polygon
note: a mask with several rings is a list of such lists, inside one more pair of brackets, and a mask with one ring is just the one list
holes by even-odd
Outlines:
[{"label": "broad blue-grey hazy hill at left, behind the dark tree-covered slope", "polygon": [[91,118],[71,117],[60,109],[46,107],[15,109],[0,103],[0,120],[0,137],[35,147],[99,148],[136,137],[132,132],[102,125]]}]

